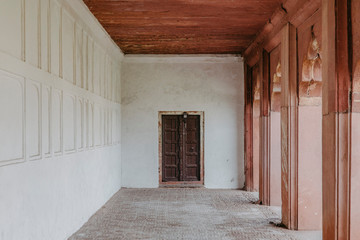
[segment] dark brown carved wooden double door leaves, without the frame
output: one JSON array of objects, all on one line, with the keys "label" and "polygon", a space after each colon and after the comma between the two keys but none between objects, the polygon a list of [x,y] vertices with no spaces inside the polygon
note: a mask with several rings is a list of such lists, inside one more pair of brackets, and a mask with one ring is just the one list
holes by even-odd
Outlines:
[{"label": "dark brown carved wooden double door leaves, without the frame", "polygon": [[200,181],[200,116],[162,116],[162,181]]}]

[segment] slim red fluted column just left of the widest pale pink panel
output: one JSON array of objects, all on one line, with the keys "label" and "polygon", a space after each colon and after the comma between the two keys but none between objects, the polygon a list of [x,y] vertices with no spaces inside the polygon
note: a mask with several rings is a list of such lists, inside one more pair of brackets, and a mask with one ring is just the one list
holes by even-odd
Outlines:
[{"label": "slim red fluted column just left of the widest pale pink panel", "polygon": [[281,200],[282,222],[298,228],[296,28],[288,23],[281,41]]}]

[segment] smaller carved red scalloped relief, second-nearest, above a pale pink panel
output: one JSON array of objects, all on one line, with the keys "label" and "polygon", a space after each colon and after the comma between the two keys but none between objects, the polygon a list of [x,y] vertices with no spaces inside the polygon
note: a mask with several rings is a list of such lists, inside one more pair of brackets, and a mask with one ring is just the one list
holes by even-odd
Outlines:
[{"label": "smaller carved red scalloped relief, second-nearest, above a pale pink panel", "polygon": [[281,47],[274,48],[270,53],[270,92],[271,111],[280,112],[281,105]]}]

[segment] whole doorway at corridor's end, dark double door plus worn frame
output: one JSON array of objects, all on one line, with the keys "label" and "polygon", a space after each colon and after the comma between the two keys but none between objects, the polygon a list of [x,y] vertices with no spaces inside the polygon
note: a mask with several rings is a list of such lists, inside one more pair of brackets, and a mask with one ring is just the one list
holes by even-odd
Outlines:
[{"label": "whole doorway at corridor's end, dark double door plus worn frame", "polygon": [[161,185],[203,185],[203,113],[159,114]]}]

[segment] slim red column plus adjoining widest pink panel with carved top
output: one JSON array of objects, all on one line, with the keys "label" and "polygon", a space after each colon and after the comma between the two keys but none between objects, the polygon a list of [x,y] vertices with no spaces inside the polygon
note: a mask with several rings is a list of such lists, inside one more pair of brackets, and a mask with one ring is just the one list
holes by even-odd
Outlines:
[{"label": "slim red column plus adjoining widest pink panel with carved top", "polygon": [[297,28],[289,23],[283,29],[282,221],[289,229],[296,230],[319,230],[322,224],[322,63],[319,42],[320,12]]}]

